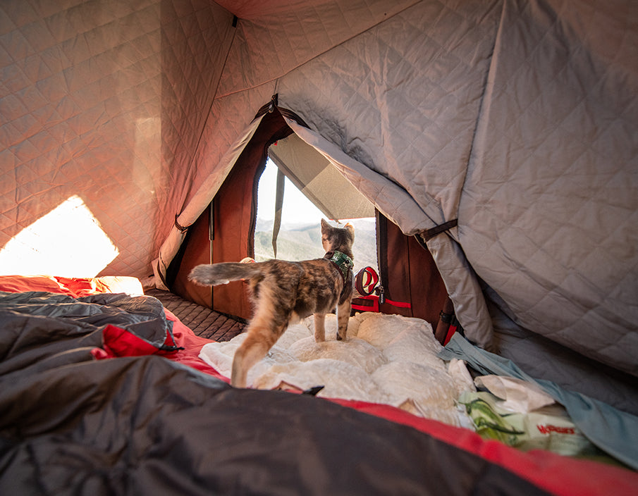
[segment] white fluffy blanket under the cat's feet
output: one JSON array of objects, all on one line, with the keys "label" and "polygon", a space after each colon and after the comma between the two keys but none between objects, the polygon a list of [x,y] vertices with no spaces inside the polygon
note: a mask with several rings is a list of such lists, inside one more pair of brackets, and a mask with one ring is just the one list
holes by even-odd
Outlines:
[{"label": "white fluffy blanket under the cat's feet", "polygon": [[[441,345],[420,318],[374,313],[350,318],[348,341],[336,340],[336,316],[326,316],[326,342],[314,341],[314,319],[290,325],[269,354],[248,373],[258,389],[317,385],[319,396],[391,404],[455,426],[470,425],[457,408],[462,391],[475,390],[462,361],[446,364]],[[200,358],[230,377],[240,334],[202,347]]]}]

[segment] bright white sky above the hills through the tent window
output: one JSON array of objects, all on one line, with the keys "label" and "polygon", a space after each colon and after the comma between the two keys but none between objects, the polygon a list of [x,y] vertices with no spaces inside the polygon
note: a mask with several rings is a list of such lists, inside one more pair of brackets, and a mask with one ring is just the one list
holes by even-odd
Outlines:
[{"label": "bright white sky above the hills through the tent window", "polygon": [[[259,192],[257,197],[257,216],[264,221],[272,221],[275,218],[275,194],[277,185],[277,166],[270,160],[266,161],[266,170],[259,180]],[[325,217],[321,210],[297,190],[288,178],[283,192],[283,212],[281,223],[319,223]]]}]

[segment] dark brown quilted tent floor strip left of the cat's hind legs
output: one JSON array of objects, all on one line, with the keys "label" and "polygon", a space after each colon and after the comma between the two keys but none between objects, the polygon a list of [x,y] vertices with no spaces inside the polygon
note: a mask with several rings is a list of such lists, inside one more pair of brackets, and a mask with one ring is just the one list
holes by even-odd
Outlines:
[{"label": "dark brown quilted tent floor strip left of the cat's hind legs", "polygon": [[168,311],[187,325],[193,333],[214,341],[229,341],[240,334],[246,324],[234,318],[219,314],[206,306],[189,302],[169,291],[152,289],[145,291],[161,302]]}]

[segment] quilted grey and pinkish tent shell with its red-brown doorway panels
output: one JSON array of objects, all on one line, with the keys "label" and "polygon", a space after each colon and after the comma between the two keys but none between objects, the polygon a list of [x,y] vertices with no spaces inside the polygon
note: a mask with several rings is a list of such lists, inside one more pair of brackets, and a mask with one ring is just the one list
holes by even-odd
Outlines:
[{"label": "quilted grey and pinkish tent shell with its red-brown doorway panels", "polygon": [[135,278],[250,321],[245,283],[188,274],[255,257],[270,159],[326,219],[375,219],[355,303],[453,313],[448,360],[593,411],[631,473],[637,47],[622,0],[5,0],[0,278]]}]

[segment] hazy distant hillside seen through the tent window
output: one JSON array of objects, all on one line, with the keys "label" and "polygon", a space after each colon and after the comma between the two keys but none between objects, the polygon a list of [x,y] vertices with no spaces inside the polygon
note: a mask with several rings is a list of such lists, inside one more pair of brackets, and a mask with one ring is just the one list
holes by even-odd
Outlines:
[{"label": "hazy distant hillside seen through the tent window", "polygon": [[[376,230],[374,221],[355,221],[355,273],[363,267],[376,265]],[[272,223],[258,223],[254,235],[255,260],[264,261],[273,258]],[[321,247],[321,225],[309,225],[304,228],[288,229],[282,226],[277,237],[277,258],[281,260],[319,259],[324,256]]]}]

